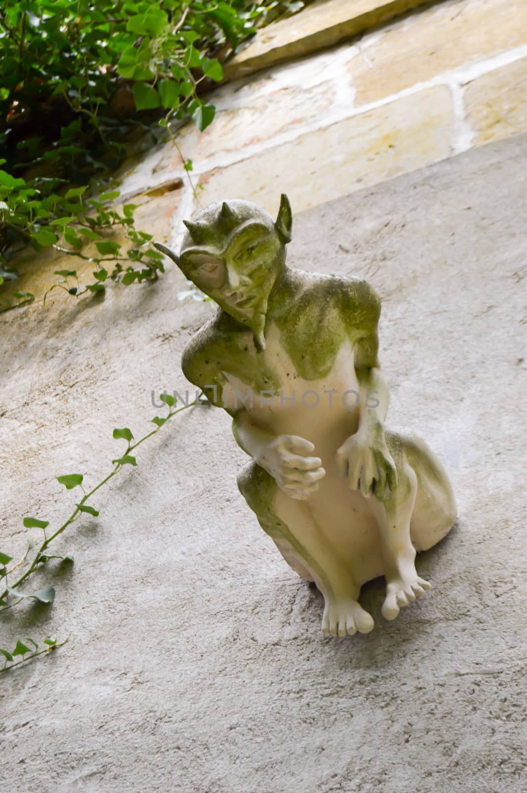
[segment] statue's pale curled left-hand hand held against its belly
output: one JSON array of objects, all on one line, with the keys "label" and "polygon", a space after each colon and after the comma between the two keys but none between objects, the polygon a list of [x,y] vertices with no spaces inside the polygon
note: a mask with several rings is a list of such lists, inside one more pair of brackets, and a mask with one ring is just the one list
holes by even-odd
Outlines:
[{"label": "statue's pale curled left-hand hand held against its belly", "polygon": [[319,457],[306,456],[314,449],[310,441],[298,435],[277,435],[263,446],[256,462],[288,496],[305,500],[318,490],[319,480],[326,475]]}]

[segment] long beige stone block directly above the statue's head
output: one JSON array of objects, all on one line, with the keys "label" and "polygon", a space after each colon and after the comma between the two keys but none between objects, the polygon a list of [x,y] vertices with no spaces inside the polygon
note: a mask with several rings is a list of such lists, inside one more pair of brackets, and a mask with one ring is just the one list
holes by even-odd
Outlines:
[{"label": "long beige stone block directly above the statue's head", "polygon": [[449,89],[423,90],[212,170],[200,201],[245,198],[274,213],[286,192],[300,212],[448,157],[453,125]]}]

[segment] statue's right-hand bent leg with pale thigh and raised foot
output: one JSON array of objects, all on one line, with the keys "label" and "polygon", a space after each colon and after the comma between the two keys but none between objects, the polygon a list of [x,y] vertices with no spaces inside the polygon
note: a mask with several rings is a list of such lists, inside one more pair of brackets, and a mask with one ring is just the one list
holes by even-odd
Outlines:
[{"label": "statue's right-hand bent leg with pale thigh and raised foot", "polygon": [[386,441],[397,468],[397,487],[384,501],[371,498],[368,503],[380,531],[387,581],[382,613],[395,619],[402,607],[431,588],[417,574],[415,549],[445,536],[456,505],[445,470],[424,443],[394,432],[386,433]]}]

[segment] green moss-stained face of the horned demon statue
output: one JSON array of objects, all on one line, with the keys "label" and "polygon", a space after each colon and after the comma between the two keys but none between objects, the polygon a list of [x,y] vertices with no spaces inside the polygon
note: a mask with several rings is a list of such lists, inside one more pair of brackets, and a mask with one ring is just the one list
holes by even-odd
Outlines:
[{"label": "green moss-stained face of the horned demon statue", "polygon": [[180,259],[181,269],[198,289],[236,320],[250,324],[254,316],[265,313],[285,262],[285,244],[270,216],[268,221],[263,215],[244,214],[231,213],[222,221],[214,213],[208,224],[198,216],[191,244],[184,244]]}]

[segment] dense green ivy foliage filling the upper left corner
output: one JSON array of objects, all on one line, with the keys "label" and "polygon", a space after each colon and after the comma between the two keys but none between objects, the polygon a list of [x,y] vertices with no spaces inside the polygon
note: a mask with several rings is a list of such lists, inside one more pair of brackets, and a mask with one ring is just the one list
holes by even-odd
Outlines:
[{"label": "dense green ivy foliage filling the upper left corner", "polygon": [[[200,130],[214,119],[201,91],[223,79],[224,61],[255,26],[304,2],[263,0],[5,0],[0,10],[0,284],[29,243],[93,261],[95,282],[79,289],[63,275],[55,287],[74,297],[104,292],[101,261],[124,285],[158,278],[162,255],[136,232],[133,205],[123,215],[106,202],[109,176],[134,128],[192,117]],[[192,163],[185,165],[187,172]],[[102,174],[94,182],[94,174]],[[71,184],[71,181],[74,184]],[[90,185],[92,196],[86,200]],[[111,187],[111,186],[110,186]],[[125,229],[128,255],[106,239]],[[83,253],[86,243],[97,251]],[[132,254],[133,251],[133,254]],[[101,257],[105,257],[102,259]],[[142,262],[141,269],[121,262]],[[110,270],[104,267],[107,273]],[[122,275],[122,277],[121,277]],[[31,302],[15,293],[0,311]]]}]

